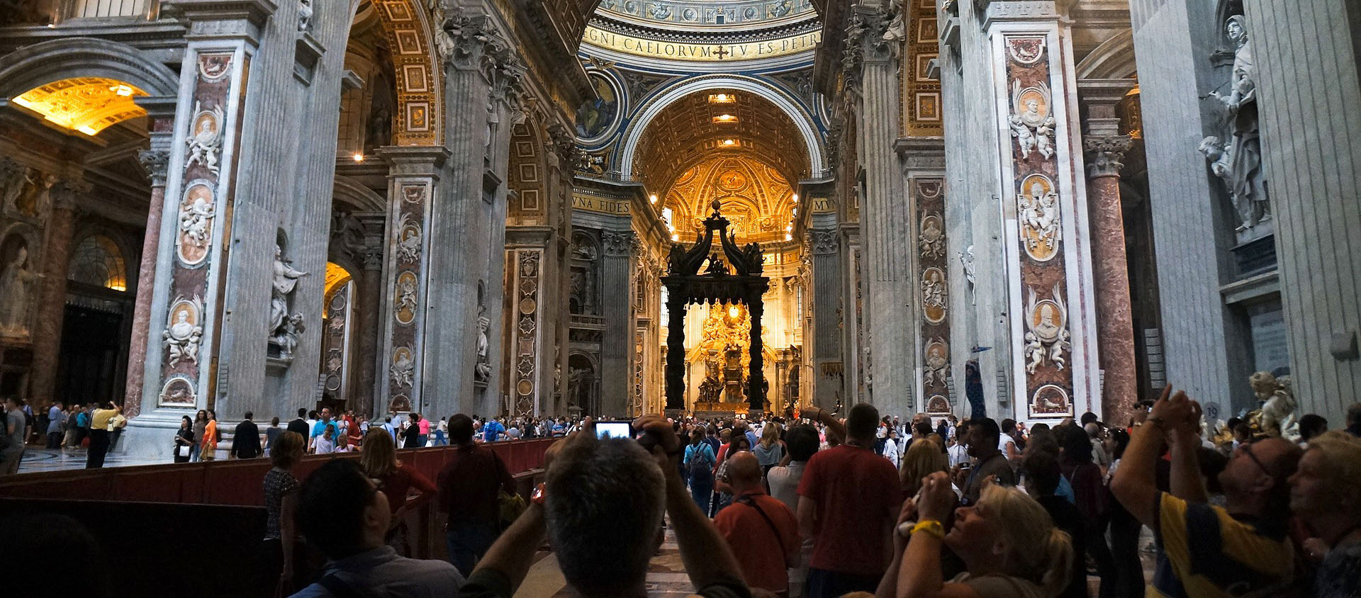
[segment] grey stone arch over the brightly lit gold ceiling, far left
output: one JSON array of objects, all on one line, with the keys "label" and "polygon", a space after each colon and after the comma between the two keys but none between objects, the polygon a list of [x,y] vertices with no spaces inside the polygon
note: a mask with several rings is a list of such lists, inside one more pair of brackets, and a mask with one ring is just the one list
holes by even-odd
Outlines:
[{"label": "grey stone arch over the brightly lit gold ceiling, far left", "polygon": [[136,86],[152,96],[180,94],[180,76],[147,60],[127,43],[98,38],[59,38],[20,48],[0,58],[0,98],[71,77],[109,77]]}]

